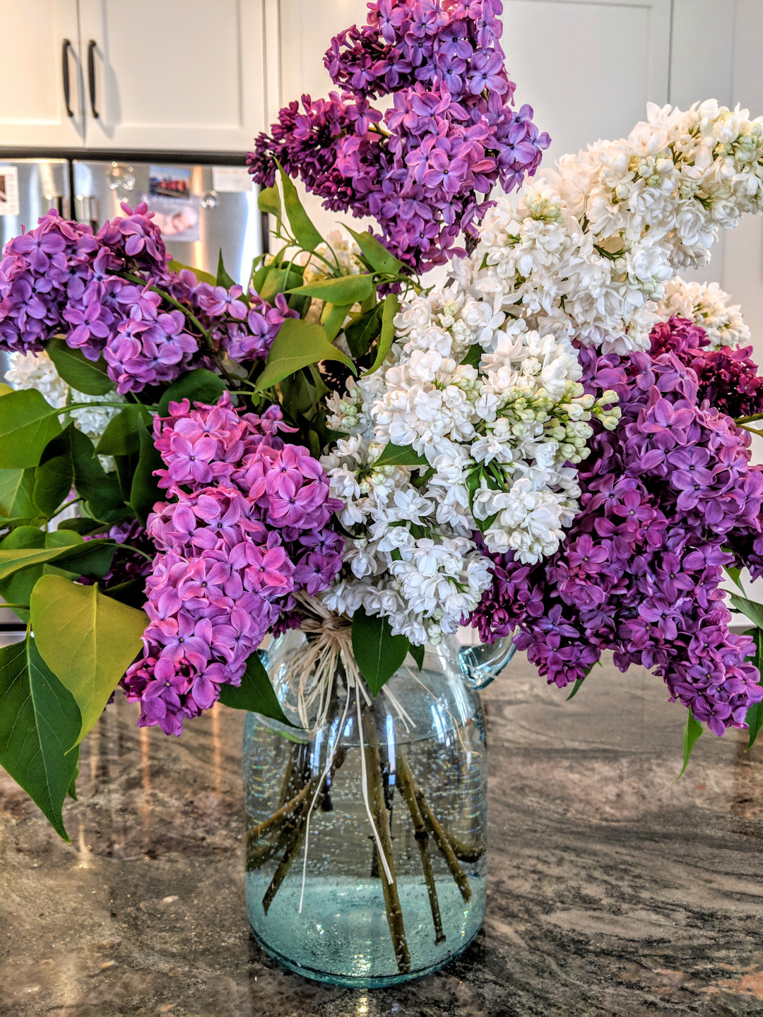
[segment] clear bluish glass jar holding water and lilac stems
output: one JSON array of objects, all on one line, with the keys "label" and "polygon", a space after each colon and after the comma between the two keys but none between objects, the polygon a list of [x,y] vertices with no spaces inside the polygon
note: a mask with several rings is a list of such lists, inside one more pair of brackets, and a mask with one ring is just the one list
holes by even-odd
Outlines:
[{"label": "clear bluish glass jar holding water and lilac stems", "polygon": [[[294,723],[284,674],[306,647],[291,631],[265,655]],[[477,935],[487,807],[477,690],[513,652],[510,640],[427,647],[421,670],[409,656],[375,699],[339,662],[309,731],[247,715],[247,910],[285,967],[390,985],[436,970]]]}]

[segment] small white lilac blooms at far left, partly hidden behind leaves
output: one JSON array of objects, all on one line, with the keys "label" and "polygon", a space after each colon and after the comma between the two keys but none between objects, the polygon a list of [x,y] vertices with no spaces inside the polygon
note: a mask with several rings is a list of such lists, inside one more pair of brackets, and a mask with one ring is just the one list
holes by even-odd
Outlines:
[{"label": "small white lilac blooms at far left, partly hidden behind leaves", "polygon": [[[91,403],[92,408],[72,410],[74,426],[86,434],[94,444],[98,444],[106,425],[119,410],[114,407],[99,406],[99,403],[122,403],[124,396],[110,392],[106,396],[87,396],[71,388],[56,370],[56,365],[44,351],[41,353],[10,353],[10,367],[5,372],[5,380],[13,388],[37,388],[56,410],[63,410],[73,403]],[[115,469],[111,456],[100,456],[105,470]]]}]

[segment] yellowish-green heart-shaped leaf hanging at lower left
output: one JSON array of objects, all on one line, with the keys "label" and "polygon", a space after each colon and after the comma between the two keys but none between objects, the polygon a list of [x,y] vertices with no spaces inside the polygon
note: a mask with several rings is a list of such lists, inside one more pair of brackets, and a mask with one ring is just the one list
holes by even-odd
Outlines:
[{"label": "yellowish-green heart-shaped leaf hanging at lower left", "polygon": [[97,586],[69,583],[60,576],[39,579],[30,604],[40,656],[79,707],[81,726],[73,744],[96,723],[140,652],[148,618],[104,596]]}]

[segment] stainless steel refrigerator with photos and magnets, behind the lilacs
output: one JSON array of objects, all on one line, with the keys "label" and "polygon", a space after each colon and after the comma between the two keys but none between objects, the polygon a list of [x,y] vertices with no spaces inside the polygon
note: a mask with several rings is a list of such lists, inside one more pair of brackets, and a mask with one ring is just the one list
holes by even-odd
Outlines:
[{"label": "stainless steel refrigerator with photos and magnets, behind the lilacs", "polygon": [[243,160],[238,166],[174,162],[0,159],[0,248],[21,227],[57,208],[98,229],[145,200],[160,223],[170,255],[217,272],[222,249],[228,275],[245,285],[262,250],[256,191]]}]

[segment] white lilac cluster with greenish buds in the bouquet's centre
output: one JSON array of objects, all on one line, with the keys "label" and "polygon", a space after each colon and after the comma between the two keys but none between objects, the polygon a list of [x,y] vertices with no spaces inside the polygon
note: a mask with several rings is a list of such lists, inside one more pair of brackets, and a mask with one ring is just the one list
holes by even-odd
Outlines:
[{"label": "white lilac cluster with greenish buds in the bouquet's centre", "polygon": [[[535,562],[551,554],[577,512],[571,465],[586,455],[592,414],[613,426],[608,393],[583,394],[566,340],[503,328],[457,286],[403,305],[388,366],[329,400],[327,422],[349,437],[322,460],[352,535],[345,575],[324,595],[332,610],[361,604],[420,644],[453,633],[490,582],[490,551]],[[477,366],[462,363],[474,348]],[[420,467],[374,466],[409,446]]]}]

